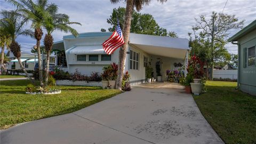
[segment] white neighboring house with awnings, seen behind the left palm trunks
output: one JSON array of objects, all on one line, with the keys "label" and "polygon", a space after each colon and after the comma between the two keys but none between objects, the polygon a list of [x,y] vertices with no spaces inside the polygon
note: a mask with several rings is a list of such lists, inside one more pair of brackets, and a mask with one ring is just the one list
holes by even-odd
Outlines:
[{"label": "white neighboring house with awnings, seen behind the left palm trunks", "polygon": [[[55,57],[55,55],[50,55],[51,69],[53,69],[55,66]],[[12,52],[9,53],[8,58],[10,59],[10,62],[8,63],[7,69],[21,69],[18,59],[14,57]],[[36,53],[22,52],[20,59],[26,70],[34,70],[35,67],[38,67],[38,59]],[[46,65],[46,57],[44,58],[44,60]]]}]

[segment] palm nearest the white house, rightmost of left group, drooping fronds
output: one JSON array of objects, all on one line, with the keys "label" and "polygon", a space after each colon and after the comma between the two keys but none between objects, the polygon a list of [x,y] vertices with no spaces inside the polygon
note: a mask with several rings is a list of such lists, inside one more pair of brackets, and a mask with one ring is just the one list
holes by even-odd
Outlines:
[{"label": "palm nearest the white house, rightmost of left group, drooping fronds", "polygon": [[47,81],[49,77],[49,61],[50,61],[50,54],[53,46],[53,37],[51,34],[54,30],[60,30],[60,31],[64,31],[65,33],[70,32],[75,37],[77,37],[78,36],[77,31],[74,28],[71,28],[69,26],[70,24],[81,25],[81,23],[79,22],[70,22],[69,16],[67,14],[57,13],[57,11],[55,13],[52,13],[48,18],[45,19],[44,28],[47,31],[47,34],[44,37],[44,46],[45,46],[46,55],[47,55],[45,83],[44,83],[45,86],[47,85]]}]

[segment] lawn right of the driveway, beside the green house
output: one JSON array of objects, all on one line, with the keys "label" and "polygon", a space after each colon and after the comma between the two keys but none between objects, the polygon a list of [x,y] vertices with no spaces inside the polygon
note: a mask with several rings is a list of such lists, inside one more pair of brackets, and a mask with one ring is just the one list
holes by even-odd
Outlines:
[{"label": "lawn right of the driveway, beside the green house", "polygon": [[225,143],[256,143],[256,97],[235,90],[236,85],[207,81],[207,93],[194,99]]}]

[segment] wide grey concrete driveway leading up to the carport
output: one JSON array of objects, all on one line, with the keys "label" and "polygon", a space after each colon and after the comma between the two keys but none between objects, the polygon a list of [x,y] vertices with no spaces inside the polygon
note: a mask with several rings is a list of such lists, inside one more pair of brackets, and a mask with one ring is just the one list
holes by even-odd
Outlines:
[{"label": "wide grey concrete driveway leading up to the carport", "polygon": [[[1,131],[1,143],[223,143],[193,97],[143,84],[74,113]],[[159,88],[164,87],[164,88]]]}]

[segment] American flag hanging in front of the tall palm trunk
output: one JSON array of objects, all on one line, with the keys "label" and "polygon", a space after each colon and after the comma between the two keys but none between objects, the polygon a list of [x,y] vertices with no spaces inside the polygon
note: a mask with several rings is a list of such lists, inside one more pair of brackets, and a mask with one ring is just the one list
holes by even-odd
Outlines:
[{"label": "American flag hanging in front of the tall palm trunk", "polygon": [[107,54],[112,54],[118,47],[124,45],[124,37],[122,30],[117,21],[117,26],[113,34],[102,44]]}]

